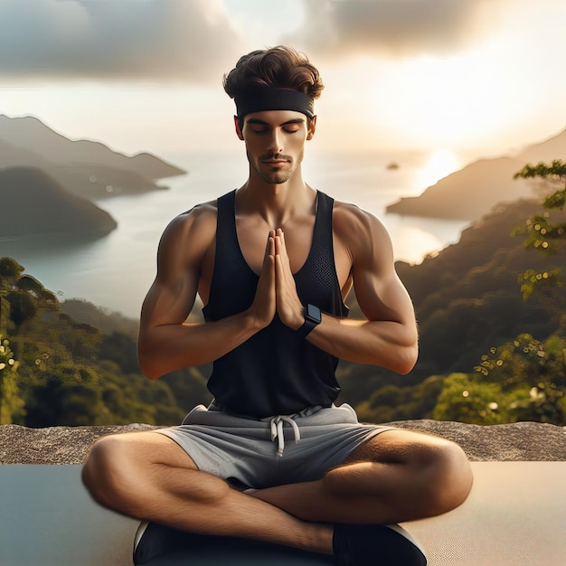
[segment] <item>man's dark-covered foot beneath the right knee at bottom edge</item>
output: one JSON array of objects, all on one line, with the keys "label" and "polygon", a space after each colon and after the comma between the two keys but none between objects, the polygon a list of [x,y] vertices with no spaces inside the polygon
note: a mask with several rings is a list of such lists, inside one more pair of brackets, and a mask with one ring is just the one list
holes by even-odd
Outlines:
[{"label": "man's dark-covered foot beneath the right knee at bottom edge", "polygon": [[427,559],[399,525],[336,524],[336,566],[426,566]]}]

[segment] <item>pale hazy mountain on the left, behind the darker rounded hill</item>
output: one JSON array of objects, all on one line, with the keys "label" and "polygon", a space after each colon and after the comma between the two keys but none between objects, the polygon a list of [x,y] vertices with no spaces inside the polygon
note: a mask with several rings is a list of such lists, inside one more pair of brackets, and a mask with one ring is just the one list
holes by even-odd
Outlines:
[{"label": "pale hazy mountain on the left, behind the darker rounded hill", "polygon": [[71,140],[31,116],[0,115],[0,167],[39,167],[87,198],[163,189],[156,179],[186,171],[147,153],[125,156],[99,142]]}]

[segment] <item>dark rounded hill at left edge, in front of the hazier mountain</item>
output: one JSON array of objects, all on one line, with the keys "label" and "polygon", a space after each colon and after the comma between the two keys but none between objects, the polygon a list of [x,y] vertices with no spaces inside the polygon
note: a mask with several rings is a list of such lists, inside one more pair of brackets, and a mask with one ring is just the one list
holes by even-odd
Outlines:
[{"label": "dark rounded hill at left edge, in front of the hazier mountain", "polygon": [[0,170],[0,238],[56,235],[99,237],[117,226],[94,203],[71,194],[33,167]]}]

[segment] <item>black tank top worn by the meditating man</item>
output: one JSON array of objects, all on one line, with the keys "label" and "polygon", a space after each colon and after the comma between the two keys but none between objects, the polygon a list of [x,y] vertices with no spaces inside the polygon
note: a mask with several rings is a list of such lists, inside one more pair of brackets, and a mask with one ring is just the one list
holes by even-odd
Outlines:
[{"label": "black tank top worn by the meditating man", "polygon": [[[250,307],[259,277],[244,259],[236,232],[235,191],[218,199],[216,255],[206,321],[236,315]],[[303,305],[347,316],[336,276],[332,234],[334,200],[317,193],[316,221],[307,261],[295,274]],[[275,316],[260,330],[213,363],[208,388],[215,403],[231,412],[264,418],[288,415],[316,405],[328,407],[340,387],[338,359],[310,344]]]}]

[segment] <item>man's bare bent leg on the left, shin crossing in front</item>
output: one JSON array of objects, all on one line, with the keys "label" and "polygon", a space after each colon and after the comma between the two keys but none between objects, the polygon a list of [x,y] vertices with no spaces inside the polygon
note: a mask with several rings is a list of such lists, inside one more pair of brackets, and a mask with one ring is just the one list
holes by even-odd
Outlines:
[{"label": "man's bare bent leg on the left, shin crossing in front", "polygon": [[82,476],[101,505],[140,520],[332,553],[332,525],[307,523],[231,489],[224,480],[198,471],[182,448],[160,434],[99,440]]}]

